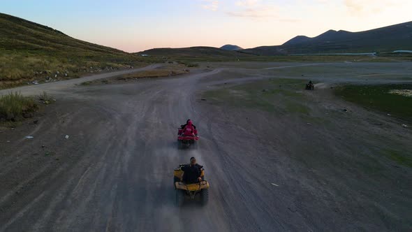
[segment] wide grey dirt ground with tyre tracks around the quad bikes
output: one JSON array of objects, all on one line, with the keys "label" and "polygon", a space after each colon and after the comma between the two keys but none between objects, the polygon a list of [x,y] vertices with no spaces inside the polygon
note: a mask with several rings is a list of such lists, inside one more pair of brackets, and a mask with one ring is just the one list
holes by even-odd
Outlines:
[{"label": "wide grey dirt ground with tyre tracks around the quad bikes", "polygon": [[[382,164],[378,175],[349,166],[369,164],[369,149],[383,138],[369,140],[370,124],[362,117],[383,120],[380,116],[325,92],[313,96],[314,107],[347,107],[358,114],[311,130],[298,117],[274,118],[200,100],[200,92],[217,84],[270,78],[267,72],[279,69],[274,67],[294,65],[302,66],[259,64],[236,71],[228,64],[230,70],[181,78],[95,86],[73,86],[80,80],[71,80],[19,89],[23,94],[46,89],[57,103],[37,124],[0,130],[0,231],[411,229],[411,168]],[[396,65],[406,66],[401,71],[407,74],[411,70],[411,64]],[[342,80],[357,81],[337,77]],[[188,118],[200,132],[198,149],[177,150],[177,126]],[[411,132],[394,129],[396,124],[372,130],[408,147]],[[316,147],[310,160],[316,159],[316,166],[305,164],[312,153],[303,148],[310,144]],[[174,205],[172,170],[190,157],[205,166],[211,184],[204,208]]]}]

